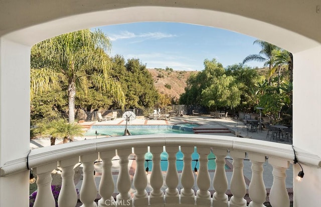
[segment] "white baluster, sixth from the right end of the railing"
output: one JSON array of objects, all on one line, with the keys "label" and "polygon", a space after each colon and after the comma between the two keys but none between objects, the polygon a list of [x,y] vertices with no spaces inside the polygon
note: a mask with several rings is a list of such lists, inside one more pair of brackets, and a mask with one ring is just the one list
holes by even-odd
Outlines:
[{"label": "white baluster, sixth from the right end of the railing", "polygon": [[181,190],[181,202],[182,204],[194,204],[195,192],[192,189],[195,182],[192,168],[192,153],[194,152],[194,146],[181,146],[181,151],[184,153],[184,165],[181,176],[181,183],[183,185],[183,189]]}]

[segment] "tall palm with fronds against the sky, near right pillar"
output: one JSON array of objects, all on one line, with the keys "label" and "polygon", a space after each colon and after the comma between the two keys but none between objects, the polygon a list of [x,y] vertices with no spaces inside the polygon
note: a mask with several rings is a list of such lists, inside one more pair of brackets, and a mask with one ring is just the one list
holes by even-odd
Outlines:
[{"label": "tall palm with fronds against the sky, near right pillar", "polygon": [[269,84],[271,84],[272,75],[275,72],[274,61],[275,61],[275,51],[281,48],[260,39],[256,39],[253,44],[259,44],[261,46],[261,51],[258,54],[250,54],[243,59],[243,64],[249,61],[260,61],[264,62],[264,66],[269,67]]}]

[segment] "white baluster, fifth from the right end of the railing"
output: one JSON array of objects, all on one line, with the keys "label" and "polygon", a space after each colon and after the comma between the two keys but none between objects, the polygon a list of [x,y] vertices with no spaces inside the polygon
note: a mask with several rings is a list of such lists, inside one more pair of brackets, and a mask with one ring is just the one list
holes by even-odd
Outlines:
[{"label": "white baluster, fifth from the right end of the railing", "polygon": [[211,186],[211,178],[208,170],[208,155],[210,153],[209,147],[197,147],[197,152],[200,155],[200,169],[197,175],[197,186],[199,189],[196,192],[196,203],[198,205],[209,206],[211,204],[211,193],[209,188]]}]

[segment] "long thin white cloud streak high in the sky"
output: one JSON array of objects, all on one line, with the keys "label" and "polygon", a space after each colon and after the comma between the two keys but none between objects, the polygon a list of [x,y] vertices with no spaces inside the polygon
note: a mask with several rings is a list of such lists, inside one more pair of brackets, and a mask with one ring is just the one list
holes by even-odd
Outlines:
[{"label": "long thin white cloud streak high in the sky", "polygon": [[175,37],[176,34],[169,34],[169,33],[163,33],[163,32],[146,32],[146,33],[139,33],[135,34],[133,32],[129,31],[122,31],[119,34],[110,34],[109,38],[112,41],[115,41],[117,39],[129,39],[129,38],[146,38],[146,39],[162,39],[162,38],[169,38],[169,37]]}]

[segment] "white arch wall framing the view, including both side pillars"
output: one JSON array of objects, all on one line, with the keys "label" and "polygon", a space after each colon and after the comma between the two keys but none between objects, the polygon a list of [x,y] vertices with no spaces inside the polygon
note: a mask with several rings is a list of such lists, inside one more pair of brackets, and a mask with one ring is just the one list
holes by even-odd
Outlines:
[{"label": "white arch wall framing the view, including both side pillars", "polygon": [[[321,15],[316,13],[317,4],[321,1],[0,1],[0,166],[26,156],[29,150],[30,47],[51,36],[81,28],[135,21],[176,21],[226,28],[291,51],[293,144],[321,156],[321,134],[317,130],[321,125]],[[321,189],[314,183],[321,181],[321,172],[303,167],[304,182],[294,183],[295,205],[320,205],[317,195]],[[28,176],[27,171],[24,176]],[[1,206],[8,206],[4,200],[15,191],[16,196],[28,196],[24,176],[0,177]],[[20,180],[22,186],[17,189],[9,184],[12,180]],[[14,201],[13,206],[27,206],[28,202],[27,199]]]}]

